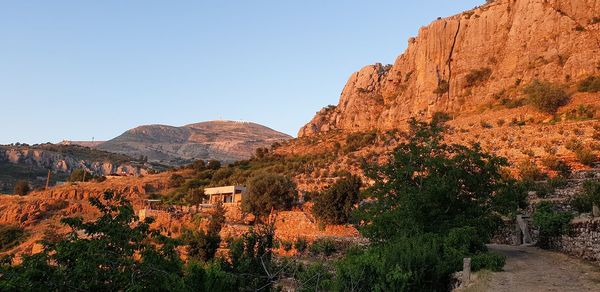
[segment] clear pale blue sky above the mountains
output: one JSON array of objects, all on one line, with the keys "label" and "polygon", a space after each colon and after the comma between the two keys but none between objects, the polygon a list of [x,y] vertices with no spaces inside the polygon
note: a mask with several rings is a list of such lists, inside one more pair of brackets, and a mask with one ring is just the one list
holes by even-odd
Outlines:
[{"label": "clear pale blue sky above the mountains", "polygon": [[0,143],[231,119],[295,136],[349,75],[483,0],[2,0]]}]

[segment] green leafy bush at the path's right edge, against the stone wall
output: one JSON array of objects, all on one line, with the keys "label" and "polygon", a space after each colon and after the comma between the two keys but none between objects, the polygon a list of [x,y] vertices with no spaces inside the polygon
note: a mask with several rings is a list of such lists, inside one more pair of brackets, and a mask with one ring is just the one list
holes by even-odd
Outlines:
[{"label": "green leafy bush at the path's right edge, against the stone wall", "polygon": [[552,203],[541,202],[533,212],[532,218],[533,224],[540,230],[538,245],[541,248],[550,248],[556,238],[569,231],[573,215],[556,211]]}]

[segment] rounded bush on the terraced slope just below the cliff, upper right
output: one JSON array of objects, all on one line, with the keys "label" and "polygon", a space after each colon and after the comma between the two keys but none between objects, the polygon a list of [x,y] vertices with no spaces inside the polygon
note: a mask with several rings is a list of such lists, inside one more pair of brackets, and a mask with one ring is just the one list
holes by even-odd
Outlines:
[{"label": "rounded bush on the terraced slope just below the cliff, upper right", "polygon": [[545,113],[554,114],[559,107],[569,102],[564,89],[548,81],[534,80],[523,91],[528,95],[530,103]]}]

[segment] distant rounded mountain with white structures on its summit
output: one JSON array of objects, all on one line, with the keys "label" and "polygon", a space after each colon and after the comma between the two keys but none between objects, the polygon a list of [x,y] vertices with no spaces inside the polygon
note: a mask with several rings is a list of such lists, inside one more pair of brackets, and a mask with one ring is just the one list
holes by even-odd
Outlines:
[{"label": "distant rounded mountain with white structures on its summit", "polygon": [[247,159],[257,148],[291,138],[255,123],[209,121],[183,127],[140,126],[99,144],[97,149],[181,165],[197,159],[225,162]]}]

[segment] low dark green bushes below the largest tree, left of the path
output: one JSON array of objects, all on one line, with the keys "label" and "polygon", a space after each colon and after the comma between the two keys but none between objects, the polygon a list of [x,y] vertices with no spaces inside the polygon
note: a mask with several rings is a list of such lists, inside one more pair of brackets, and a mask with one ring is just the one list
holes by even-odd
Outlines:
[{"label": "low dark green bushes below the largest tree, left of the path", "polygon": [[337,264],[337,291],[449,291],[454,280],[442,240],[415,234],[350,254]]}]

